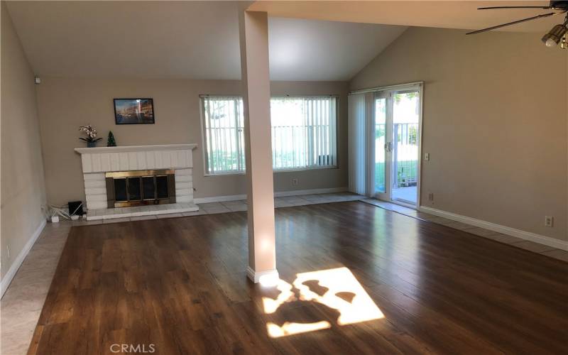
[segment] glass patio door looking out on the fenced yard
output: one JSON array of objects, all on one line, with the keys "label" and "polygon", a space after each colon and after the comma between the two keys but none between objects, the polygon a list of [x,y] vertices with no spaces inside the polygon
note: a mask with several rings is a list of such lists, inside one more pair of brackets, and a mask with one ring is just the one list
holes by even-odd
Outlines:
[{"label": "glass patio door looking out on the fenced yard", "polygon": [[420,96],[416,87],[375,94],[373,180],[380,200],[417,205]]}]

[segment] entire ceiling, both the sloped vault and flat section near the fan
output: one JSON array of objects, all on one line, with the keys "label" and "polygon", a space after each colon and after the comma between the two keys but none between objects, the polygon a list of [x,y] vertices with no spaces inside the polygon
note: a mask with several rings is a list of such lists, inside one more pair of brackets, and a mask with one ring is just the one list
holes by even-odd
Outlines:
[{"label": "entire ceiling, both the sloped vault and flat section near the fan", "polygon": [[[268,11],[273,80],[349,80],[406,26],[481,28],[547,1],[250,1]],[[236,1],[9,1],[38,75],[239,79]],[[555,19],[506,28],[547,31]]]}]

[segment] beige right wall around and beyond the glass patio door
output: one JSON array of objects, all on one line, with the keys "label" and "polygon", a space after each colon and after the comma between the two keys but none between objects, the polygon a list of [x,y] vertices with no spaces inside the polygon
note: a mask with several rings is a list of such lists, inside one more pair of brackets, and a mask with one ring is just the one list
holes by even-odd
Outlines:
[{"label": "beige right wall around and beyond the glass patio door", "polygon": [[409,28],[350,87],[425,81],[422,205],[567,240],[568,50],[464,33]]}]

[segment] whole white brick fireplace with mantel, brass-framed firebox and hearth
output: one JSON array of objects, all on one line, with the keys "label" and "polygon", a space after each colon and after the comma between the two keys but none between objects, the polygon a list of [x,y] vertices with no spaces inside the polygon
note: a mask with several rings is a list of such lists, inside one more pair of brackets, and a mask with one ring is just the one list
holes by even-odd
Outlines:
[{"label": "whole white brick fireplace with mantel, brass-framed firebox and hearth", "polygon": [[[75,148],[81,155],[87,220],[199,211],[193,203],[196,147],[184,143]],[[138,208],[145,204],[153,206]]]}]

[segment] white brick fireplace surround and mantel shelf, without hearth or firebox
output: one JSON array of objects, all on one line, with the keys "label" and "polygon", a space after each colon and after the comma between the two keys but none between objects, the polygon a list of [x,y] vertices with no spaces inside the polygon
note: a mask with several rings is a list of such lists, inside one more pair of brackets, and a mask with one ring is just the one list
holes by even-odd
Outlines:
[{"label": "white brick fireplace surround and mantel shelf, without hearth or firebox", "polygon": [[175,200],[192,204],[192,151],[196,147],[189,143],[75,148],[81,155],[87,209],[107,208],[105,173],[131,170],[174,170]]}]

